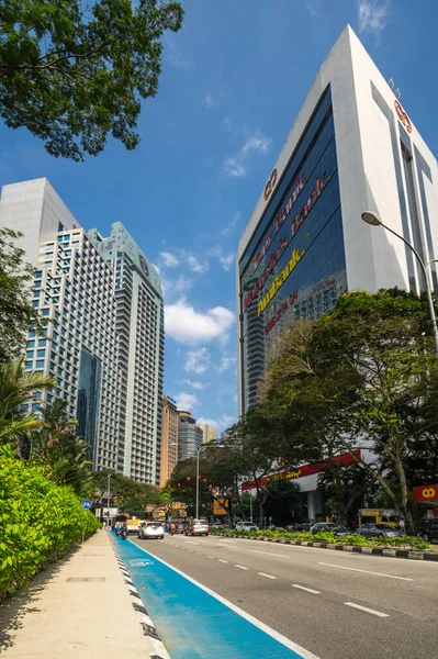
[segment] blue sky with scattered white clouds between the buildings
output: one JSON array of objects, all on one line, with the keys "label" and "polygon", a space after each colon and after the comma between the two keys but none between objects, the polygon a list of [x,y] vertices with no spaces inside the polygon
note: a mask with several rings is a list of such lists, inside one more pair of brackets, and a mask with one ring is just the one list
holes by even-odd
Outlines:
[{"label": "blue sky with scattered white clouds between the buildings", "polygon": [[[234,257],[317,69],[350,23],[438,153],[438,2],[186,0],[141,146],[83,164],[0,126],[0,183],[45,176],[86,228],[121,221],[165,286],[165,391],[220,431],[236,417]],[[414,9],[415,7],[415,9]]]}]

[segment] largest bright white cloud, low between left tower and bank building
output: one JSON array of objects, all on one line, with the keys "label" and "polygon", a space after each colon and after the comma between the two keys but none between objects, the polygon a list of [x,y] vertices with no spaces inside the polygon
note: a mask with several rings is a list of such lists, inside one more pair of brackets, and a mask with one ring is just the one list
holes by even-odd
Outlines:
[{"label": "largest bright white cloud, low between left tower and bank building", "polygon": [[225,306],[215,306],[205,313],[195,311],[184,298],[165,305],[166,333],[176,342],[199,344],[215,338],[224,340],[235,316]]}]

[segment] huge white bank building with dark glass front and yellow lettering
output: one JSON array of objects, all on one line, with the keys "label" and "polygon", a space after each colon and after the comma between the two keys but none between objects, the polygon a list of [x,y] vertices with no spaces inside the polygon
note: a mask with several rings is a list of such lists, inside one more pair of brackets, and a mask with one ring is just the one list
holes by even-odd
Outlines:
[{"label": "huge white bank building with dark glass front and yellow lettering", "polygon": [[[276,98],[288,102],[289,89]],[[362,222],[361,213],[377,212],[429,261],[438,256],[437,179],[437,161],[407,109],[347,26],[317,72],[239,242],[240,414],[257,401],[270,348],[294,319],[330,311],[348,290],[424,290],[409,248]],[[430,269],[438,292],[436,264]]]}]

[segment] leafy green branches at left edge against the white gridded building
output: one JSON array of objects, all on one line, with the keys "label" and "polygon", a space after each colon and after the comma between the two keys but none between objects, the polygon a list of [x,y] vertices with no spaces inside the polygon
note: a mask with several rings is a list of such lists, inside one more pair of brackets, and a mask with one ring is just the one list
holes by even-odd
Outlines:
[{"label": "leafy green branches at left edge against the white gridded building", "polygon": [[24,250],[16,247],[21,235],[0,228],[0,364],[20,357],[32,323],[41,330],[30,294],[34,269],[24,264]]}]

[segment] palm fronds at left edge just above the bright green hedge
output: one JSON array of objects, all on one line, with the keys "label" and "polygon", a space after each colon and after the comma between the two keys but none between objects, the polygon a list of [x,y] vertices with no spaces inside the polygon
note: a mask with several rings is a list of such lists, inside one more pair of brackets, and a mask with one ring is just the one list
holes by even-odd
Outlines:
[{"label": "palm fronds at left edge just above the bright green hedge", "polygon": [[56,384],[49,376],[25,371],[23,358],[0,367],[0,444],[29,443],[42,421],[23,405],[37,401],[36,393]]}]

